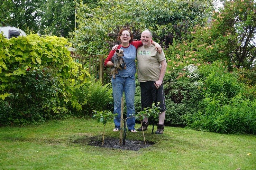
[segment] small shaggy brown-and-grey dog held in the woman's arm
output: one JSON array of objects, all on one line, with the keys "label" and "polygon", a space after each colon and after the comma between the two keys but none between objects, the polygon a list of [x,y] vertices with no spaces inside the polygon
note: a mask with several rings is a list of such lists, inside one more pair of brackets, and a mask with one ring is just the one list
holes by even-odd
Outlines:
[{"label": "small shaggy brown-and-grey dog held in the woman's arm", "polygon": [[122,70],[122,68],[126,69],[126,64],[123,59],[124,56],[124,50],[117,49],[116,53],[111,58],[111,62],[114,63],[114,67],[111,67],[111,75],[113,75],[113,78],[116,78],[116,74],[118,74],[117,69]]}]

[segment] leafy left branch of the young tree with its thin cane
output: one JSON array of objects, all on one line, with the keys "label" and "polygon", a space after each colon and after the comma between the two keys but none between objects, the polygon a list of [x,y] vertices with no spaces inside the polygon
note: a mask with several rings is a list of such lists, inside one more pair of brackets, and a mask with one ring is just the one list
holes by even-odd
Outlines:
[{"label": "leafy left branch of the young tree with its thin cane", "polygon": [[105,129],[106,129],[106,123],[110,120],[110,119],[115,119],[115,116],[117,114],[113,114],[112,112],[110,111],[101,111],[101,112],[98,112],[98,111],[95,111],[93,110],[92,112],[93,114],[93,118],[96,118],[98,120],[98,123],[102,122],[103,125],[104,125],[104,130],[103,130],[103,138],[102,138],[102,145],[104,144],[104,135],[105,135]]}]

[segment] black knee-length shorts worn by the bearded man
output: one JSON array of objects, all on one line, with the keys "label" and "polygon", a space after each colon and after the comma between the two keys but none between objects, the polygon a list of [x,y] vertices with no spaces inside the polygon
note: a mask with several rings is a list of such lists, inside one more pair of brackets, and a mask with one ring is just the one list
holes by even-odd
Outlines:
[{"label": "black knee-length shorts worn by the bearded man", "polygon": [[164,100],[164,87],[163,84],[156,89],[153,82],[142,82],[140,83],[140,97],[141,97],[141,110],[145,107],[151,107],[152,103],[161,102],[160,112],[166,111],[165,100]]}]

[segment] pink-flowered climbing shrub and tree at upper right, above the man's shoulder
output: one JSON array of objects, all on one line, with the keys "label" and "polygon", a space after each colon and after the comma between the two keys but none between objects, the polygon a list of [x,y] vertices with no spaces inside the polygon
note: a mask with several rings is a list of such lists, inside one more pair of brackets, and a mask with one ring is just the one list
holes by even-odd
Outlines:
[{"label": "pink-flowered climbing shrub and tree at upper right, above the man's shoulder", "polygon": [[[213,11],[207,26],[196,25],[176,38],[166,51],[171,66],[202,64],[223,60],[229,67],[253,66],[255,59],[255,2],[225,1],[219,12]],[[192,60],[192,61],[191,61]],[[201,62],[200,62],[201,61]]]}]

